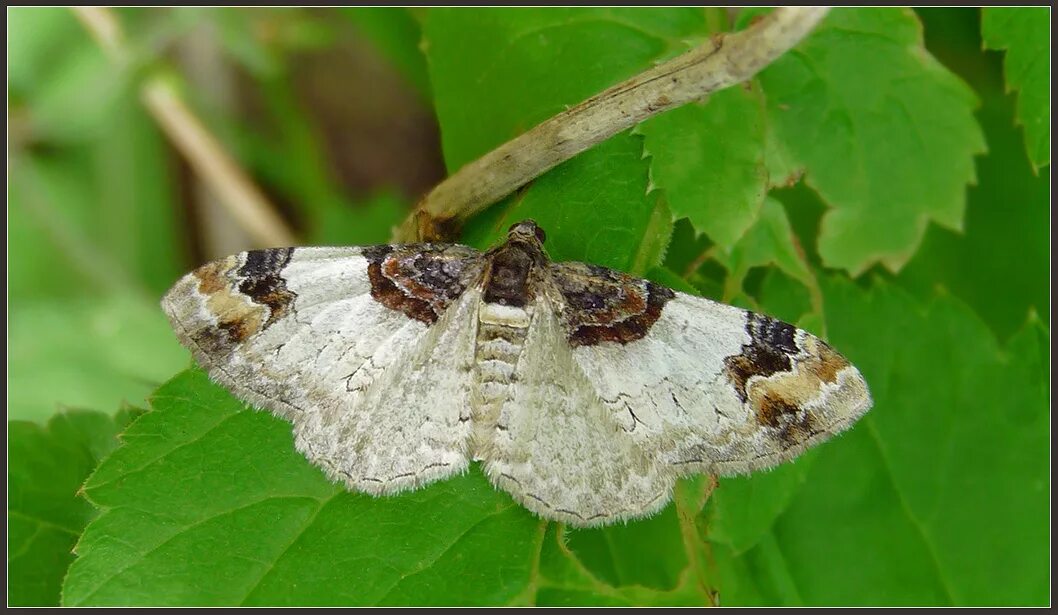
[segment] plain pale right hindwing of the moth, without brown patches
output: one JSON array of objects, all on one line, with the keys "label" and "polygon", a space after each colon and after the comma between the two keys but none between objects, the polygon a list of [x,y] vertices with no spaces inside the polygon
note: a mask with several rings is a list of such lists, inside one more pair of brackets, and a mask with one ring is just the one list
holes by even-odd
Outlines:
[{"label": "plain pale right hindwing of the moth, without brown patches", "polygon": [[674,473],[619,437],[608,412],[574,364],[559,314],[537,303],[510,398],[478,451],[485,471],[526,508],[573,526],[656,512]]}]

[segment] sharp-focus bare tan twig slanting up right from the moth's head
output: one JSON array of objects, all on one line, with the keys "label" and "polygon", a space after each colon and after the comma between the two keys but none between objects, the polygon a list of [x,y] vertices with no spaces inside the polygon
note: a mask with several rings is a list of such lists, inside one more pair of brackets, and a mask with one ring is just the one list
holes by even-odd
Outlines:
[{"label": "sharp-focus bare tan twig slanting up right from the moth's head", "polygon": [[798,43],[825,7],[777,8],[567,109],[468,163],[437,185],[396,239],[443,238],[467,218],[592,145],[653,115],[749,79]]}]

